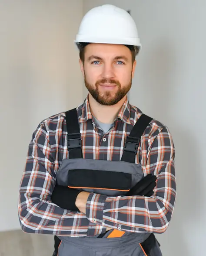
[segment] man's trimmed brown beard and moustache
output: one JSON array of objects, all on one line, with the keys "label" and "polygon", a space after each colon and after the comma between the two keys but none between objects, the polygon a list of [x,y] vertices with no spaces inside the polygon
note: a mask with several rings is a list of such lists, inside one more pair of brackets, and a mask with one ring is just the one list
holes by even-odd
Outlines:
[{"label": "man's trimmed brown beard and moustache", "polygon": [[[101,79],[96,81],[95,86],[89,84],[86,81],[86,75],[84,75],[84,83],[90,94],[93,96],[93,98],[100,103],[101,105],[105,106],[112,106],[118,103],[123,97],[130,91],[130,88],[132,86],[132,75],[130,82],[122,88],[121,84],[119,81],[115,81],[112,79]],[[114,94],[110,91],[101,93],[98,89],[99,84],[115,84],[118,86],[117,92]],[[114,95],[113,95],[114,94]]]}]

